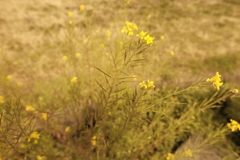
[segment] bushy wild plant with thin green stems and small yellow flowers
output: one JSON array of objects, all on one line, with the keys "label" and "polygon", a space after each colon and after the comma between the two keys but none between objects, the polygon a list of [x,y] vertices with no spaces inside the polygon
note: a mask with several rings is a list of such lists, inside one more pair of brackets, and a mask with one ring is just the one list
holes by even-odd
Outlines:
[{"label": "bushy wild plant with thin green stems and small yellow flowers", "polygon": [[[80,6],[81,12],[84,9]],[[142,73],[149,64],[148,50],[155,47],[151,34],[139,32],[136,24],[126,21],[113,42],[112,32],[107,30],[105,45],[91,44],[91,39],[97,39],[92,34],[78,46],[74,14],[69,12],[68,17],[63,47],[67,54],[56,63],[62,74],[44,85],[35,84],[39,92],[32,91],[27,100],[22,98],[21,85],[1,93],[2,159],[181,159],[194,156],[204,145],[217,143],[229,128],[240,129],[233,120],[229,128],[214,126],[210,133],[200,129],[201,114],[236,94],[220,89],[223,82],[218,72],[186,88],[166,87]],[[87,51],[96,46],[100,55],[81,57],[78,52],[81,48],[90,53]],[[99,65],[92,64],[95,58]],[[15,85],[12,80],[7,76],[5,87]],[[191,94],[207,92],[209,83],[216,90],[212,96],[201,101],[191,98]],[[16,95],[15,90],[19,91]],[[175,155],[176,144],[197,130],[208,134],[206,141]]]}]

